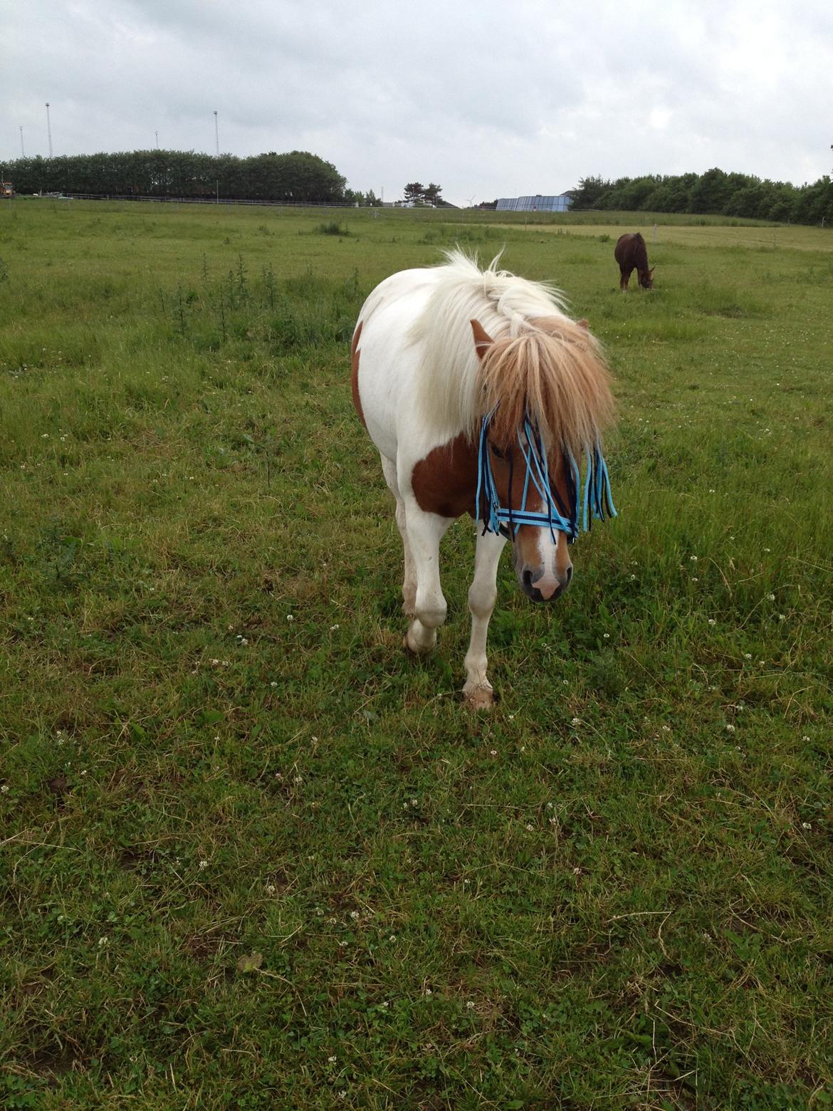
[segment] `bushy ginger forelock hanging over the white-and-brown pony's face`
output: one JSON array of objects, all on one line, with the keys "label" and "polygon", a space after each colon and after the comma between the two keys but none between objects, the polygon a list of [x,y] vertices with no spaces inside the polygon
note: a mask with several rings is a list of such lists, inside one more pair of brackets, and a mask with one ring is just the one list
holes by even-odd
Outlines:
[{"label": "bushy ginger forelock hanging over the white-and-brown pony's face", "polygon": [[576,459],[613,419],[610,374],[584,322],[548,317],[519,336],[496,339],[481,362],[484,411],[495,410],[491,436],[509,447],[524,417]]}]

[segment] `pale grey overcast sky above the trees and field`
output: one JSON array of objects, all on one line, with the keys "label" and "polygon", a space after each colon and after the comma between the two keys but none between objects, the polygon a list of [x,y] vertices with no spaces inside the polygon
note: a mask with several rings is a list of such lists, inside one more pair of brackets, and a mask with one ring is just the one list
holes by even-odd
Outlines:
[{"label": "pale grey overcast sky above the trees and field", "polygon": [[454,203],[592,174],[814,181],[833,0],[10,0],[0,159],[310,150]]}]

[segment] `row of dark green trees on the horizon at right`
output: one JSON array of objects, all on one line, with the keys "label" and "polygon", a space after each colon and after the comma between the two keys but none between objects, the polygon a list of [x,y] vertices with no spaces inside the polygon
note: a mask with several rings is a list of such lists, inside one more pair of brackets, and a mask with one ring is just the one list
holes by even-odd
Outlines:
[{"label": "row of dark green trees on the horizon at right", "polygon": [[573,190],[572,208],[618,209],[629,212],[696,212],[750,217],[792,223],[833,221],[833,181],[812,186],[762,181],[746,173],[683,173],[676,177],[582,178]]}]

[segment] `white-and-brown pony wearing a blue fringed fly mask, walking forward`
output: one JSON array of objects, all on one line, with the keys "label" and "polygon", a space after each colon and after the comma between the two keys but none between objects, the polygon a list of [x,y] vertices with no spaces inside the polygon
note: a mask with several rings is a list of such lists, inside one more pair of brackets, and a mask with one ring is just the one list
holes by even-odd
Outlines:
[{"label": "white-and-brown pony wearing a blue fringed fly mask, walking forward", "polygon": [[599,343],[556,290],[499,271],[499,258],[484,270],[460,251],[445,260],[392,274],[364,302],[352,392],[397,501],[409,651],[430,652],[445,620],[445,530],[464,513],[478,522],[463,694],[489,707],[486,632],[504,543],[524,593],[552,601],[573,573],[580,509],[585,529],[589,507],[591,520],[615,516],[600,443],[612,398]]}]

